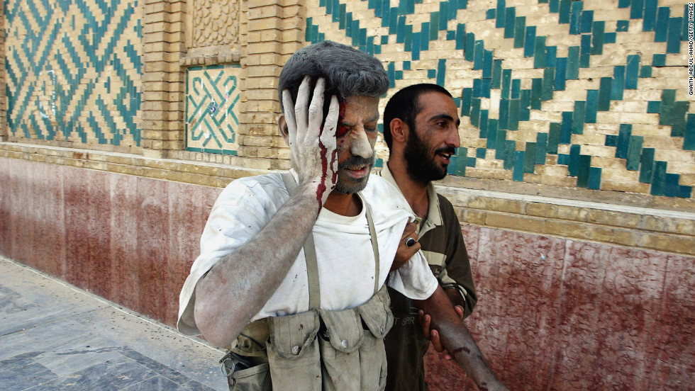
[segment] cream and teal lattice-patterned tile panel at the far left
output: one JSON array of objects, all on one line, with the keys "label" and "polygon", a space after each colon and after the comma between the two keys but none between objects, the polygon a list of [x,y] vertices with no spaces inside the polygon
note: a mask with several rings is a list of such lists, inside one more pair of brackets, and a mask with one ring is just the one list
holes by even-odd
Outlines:
[{"label": "cream and teal lattice-patterned tile panel at the far left", "polygon": [[[77,134],[82,143],[94,138],[111,145],[121,145],[127,137],[140,145],[142,91],[134,80],[142,76],[140,42],[126,36],[128,32],[138,41],[143,36],[136,9],[137,0],[5,2],[5,36],[21,39],[20,45],[6,47],[7,122],[12,135],[55,140],[60,134],[68,140]],[[76,13],[82,18],[75,18]],[[78,26],[80,19],[85,22]],[[49,75],[48,82],[40,81],[42,74]],[[50,104],[40,101],[37,92]],[[95,104],[88,108],[88,102]],[[39,115],[28,112],[30,103]]]}]

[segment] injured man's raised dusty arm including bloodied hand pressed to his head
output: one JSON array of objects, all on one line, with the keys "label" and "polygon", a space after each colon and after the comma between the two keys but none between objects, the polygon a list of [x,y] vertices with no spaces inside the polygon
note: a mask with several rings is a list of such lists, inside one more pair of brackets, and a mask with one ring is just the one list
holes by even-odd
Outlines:
[{"label": "injured man's raised dusty arm including bloodied hand pressed to his head", "polygon": [[255,237],[220,259],[196,285],[196,324],[215,346],[228,348],[277,290],[335,187],[338,100],[331,99],[322,130],[324,85],[323,79],[316,81],[311,104],[308,78],[296,105],[283,91],[287,141],[299,176],[296,192]]}]

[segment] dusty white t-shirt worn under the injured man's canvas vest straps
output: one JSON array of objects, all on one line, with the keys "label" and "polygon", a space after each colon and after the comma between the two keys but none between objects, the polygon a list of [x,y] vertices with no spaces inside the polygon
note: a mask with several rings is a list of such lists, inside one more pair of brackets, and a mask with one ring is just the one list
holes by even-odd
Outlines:
[{"label": "dusty white t-shirt worn under the injured man's canvas vest straps", "polygon": [[[288,198],[279,173],[238,179],[224,189],[203,231],[201,254],[193,263],[179,296],[179,331],[200,334],[193,317],[194,290],[199,278],[222,256],[254,237]],[[362,191],[362,202],[365,200],[377,232],[381,288],[389,276],[403,229],[414,215],[398,189],[379,176],[369,177]],[[369,300],[374,294],[374,252],[365,208],[355,217],[337,215],[323,208],[313,227],[313,237],[321,308],[345,310]],[[389,286],[415,300],[430,297],[437,285],[421,251],[389,278]],[[302,249],[275,293],[252,320],[308,309],[308,280]]]}]

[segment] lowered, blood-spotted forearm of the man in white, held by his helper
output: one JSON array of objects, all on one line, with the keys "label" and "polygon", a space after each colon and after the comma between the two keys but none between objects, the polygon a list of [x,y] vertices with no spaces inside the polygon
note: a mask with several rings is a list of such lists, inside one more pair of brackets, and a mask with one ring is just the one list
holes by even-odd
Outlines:
[{"label": "lowered, blood-spotted forearm of the man in white, held by his helper", "polygon": [[426,300],[416,305],[431,317],[432,329],[439,332],[443,346],[466,370],[481,391],[507,390],[490,369],[466,324],[452,307],[452,302],[438,286]]}]

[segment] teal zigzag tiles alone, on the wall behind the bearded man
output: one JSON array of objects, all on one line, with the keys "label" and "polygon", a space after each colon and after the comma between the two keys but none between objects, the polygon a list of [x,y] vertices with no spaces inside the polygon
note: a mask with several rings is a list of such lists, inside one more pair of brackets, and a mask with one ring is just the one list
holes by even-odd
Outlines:
[{"label": "teal zigzag tiles alone, on the wall behind the bearded man", "polygon": [[[530,110],[540,110],[544,101],[550,101],[555,91],[565,90],[565,81],[578,79],[579,68],[591,66],[591,56],[603,54],[605,43],[614,43],[618,33],[627,33],[629,21],[619,21],[616,31],[606,32],[604,21],[594,21],[594,11],[584,10],[584,1],[539,0],[548,4],[551,13],[559,14],[559,22],[567,24],[568,33],[581,35],[581,45],[569,47],[567,57],[557,57],[557,47],[546,46],[545,36],[536,35],[536,26],[527,26],[526,17],[516,16],[515,7],[507,7],[505,0],[497,0],[496,8],[487,11],[489,19],[495,19],[496,28],[504,28],[504,38],[513,39],[514,47],[524,49],[524,57],[533,57],[534,67],[544,69],[543,78],[533,79],[531,89],[521,89],[521,79],[513,78],[513,69],[504,68],[504,59],[494,58],[492,50],[486,50],[484,40],[477,40],[474,33],[466,33],[465,23],[458,23],[456,30],[448,30],[448,21],[455,21],[457,12],[467,8],[467,0],[440,1],[439,11],[430,13],[430,21],[421,23],[419,32],[406,23],[406,16],[415,12],[415,4],[421,0],[399,1],[391,6],[390,0],[368,1],[368,8],[381,19],[382,27],[389,28],[389,35],[367,37],[367,29],[360,28],[360,21],[352,19],[347,5],[339,0],[320,0],[326,15],[339,23],[352,45],[371,55],[380,54],[381,46],[395,35],[396,43],[403,43],[411,60],[419,60],[420,53],[429,50],[429,42],[438,40],[440,30],[446,39],[455,41],[456,50],[463,50],[465,60],[472,62],[474,70],[482,70],[482,78],[474,79],[473,87],[463,89],[455,98],[461,114],[470,118],[486,140],[486,148],[479,148],[476,157],[467,157],[467,149],[460,148],[455,161],[450,164],[450,174],[465,175],[467,166],[475,166],[477,159],[484,159],[485,149],[495,150],[495,159],[504,161],[504,169],[513,171],[515,181],[523,181],[524,173],[533,173],[535,164],[545,164],[547,154],[556,154],[558,164],[568,167],[569,176],[577,177],[577,186],[599,189],[601,168],[591,166],[591,156],[581,153],[581,145],[571,145],[572,134],[582,134],[585,123],[596,123],[596,113],[609,111],[611,101],[622,100],[625,89],[638,89],[640,77],[650,77],[651,67],[664,66],[665,54],[655,55],[651,65],[640,65],[640,55],[630,55],[624,66],[614,67],[613,77],[601,79],[598,90],[588,90],[586,101],[576,101],[574,111],[563,112],[560,123],[551,123],[548,132],[539,132],[536,142],[527,142],[526,148],[516,150],[516,141],[507,140],[507,132],[518,130],[519,121],[528,121]],[[642,19],[644,31],[655,31],[655,42],[667,42],[667,53],[678,53],[680,42],[687,40],[687,5],[683,17],[671,17],[671,8],[658,6],[657,0],[620,0],[620,8],[630,8],[631,19]],[[318,42],[325,39],[320,26],[306,21],[306,40]],[[409,69],[409,61],[399,64]],[[391,87],[395,80],[403,78],[403,70],[389,62],[387,72]],[[437,69],[429,69],[428,77],[443,86],[446,60],[438,62]],[[491,90],[500,90],[499,118],[488,118],[488,111],[480,109],[481,98],[489,98]],[[683,137],[684,150],[695,150],[695,115],[687,113],[689,102],[674,101],[674,90],[665,90],[662,101],[650,102],[650,108],[660,114],[660,125],[672,127],[672,137]],[[667,173],[667,162],[654,160],[654,149],[642,148],[642,139],[630,135],[631,125],[621,125],[619,143],[606,137],[606,145],[616,142],[616,157],[626,158],[628,170],[640,170],[640,182],[650,183],[655,196],[684,197],[692,194],[692,186],[679,184],[679,174]],[[570,145],[569,154],[558,154],[558,145]],[[627,152],[624,152],[627,151]],[[627,153],[627,154],[625,154]]]}]

